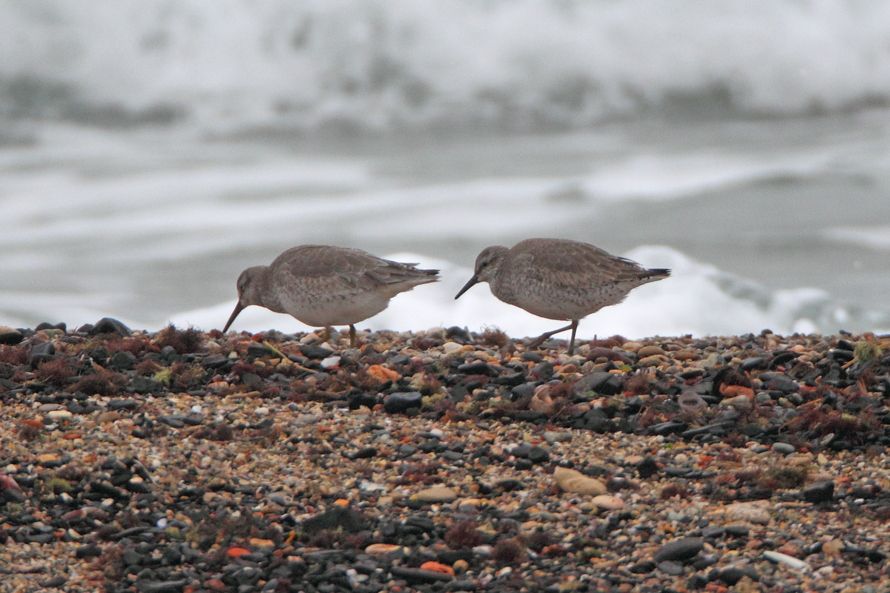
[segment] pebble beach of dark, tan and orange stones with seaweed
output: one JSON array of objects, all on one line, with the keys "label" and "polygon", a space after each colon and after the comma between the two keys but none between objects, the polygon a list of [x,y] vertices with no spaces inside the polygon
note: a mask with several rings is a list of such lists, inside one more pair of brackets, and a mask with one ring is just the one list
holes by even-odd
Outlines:
[{"label": "pebble beach of dark, tan and orange stones with seaweed", "polygon": [[890,338],[0,328],[0,591],[890,591]]}]

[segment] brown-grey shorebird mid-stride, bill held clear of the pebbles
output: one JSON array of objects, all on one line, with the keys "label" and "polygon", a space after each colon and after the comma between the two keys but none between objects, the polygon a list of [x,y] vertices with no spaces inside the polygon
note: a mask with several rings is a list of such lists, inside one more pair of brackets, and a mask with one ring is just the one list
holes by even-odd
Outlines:
[{"label": "brown-grey shorebird mid-stride, bill held clear of the pebbles", "polygon": [[568,353],[575,350],[578,321],[624,300],[631,290],[670,276],[663,268],[647,269],[599,247],[566,239],[526,239],[513,247],[493,245],[476,257],[473,277],[455,299],[479,282],[488,282],[498,299],[547,319],[569,321],[529,343],[572,330]]}]

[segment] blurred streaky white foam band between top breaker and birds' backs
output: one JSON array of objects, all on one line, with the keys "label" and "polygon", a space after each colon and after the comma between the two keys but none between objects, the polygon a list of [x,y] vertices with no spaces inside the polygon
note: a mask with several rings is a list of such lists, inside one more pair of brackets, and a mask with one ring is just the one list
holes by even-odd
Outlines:
[{"label": "blurred streaky white foam band between top breaker and birds' backs", "polygon": [[[0,262],[18,259],[22,246],[52,243],[102,242],[106,248],[91,248],[91,257],[122,263],[279,246],[281,237],[329,242],[333,234],[362,244],[397,236],[407,245],[435,229],[440,240],[501,240],[559,229],[615,202],[690,197],[776,175],[805,177],[826,160],[818,153],[772,161],[726,151],[653,154],[605,160],[590,175],[405,181],[386,178],[360,158],[251,160],[237,147],[208,162],[200,160],[205,145],[180,147],[172,162],[159,164],[133,146],[138,142],[118,149],[96,136],[82,143],[80,160],[58,166],[41,166],[59,158],[58,140],[24,154],[0,152]],[[162,146],[169,148],[170,140]]]}]

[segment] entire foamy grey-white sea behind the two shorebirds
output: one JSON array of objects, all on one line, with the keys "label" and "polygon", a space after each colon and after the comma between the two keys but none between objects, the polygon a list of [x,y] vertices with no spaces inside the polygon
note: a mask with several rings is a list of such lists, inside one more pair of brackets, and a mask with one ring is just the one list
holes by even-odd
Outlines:
[{"label": "entire foamy grey-white sea behind the two shorebirds", "polygon": [[323,242],[443,268],[370,327],[533,334],[452,297],[559,236],[675,269],[581,335],[890,328],[877,3],[89,6],[0,5],[0,323],[220,327]]}]

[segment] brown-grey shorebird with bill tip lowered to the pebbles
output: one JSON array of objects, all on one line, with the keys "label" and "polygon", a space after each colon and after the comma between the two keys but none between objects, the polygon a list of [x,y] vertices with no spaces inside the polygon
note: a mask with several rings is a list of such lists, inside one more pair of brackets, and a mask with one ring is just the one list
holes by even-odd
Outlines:
[{"label": "brown-grey shorebird with bill tip lowered to the pebbles", "polygon": [[334,325],[349,326],[355,346],[355,324],[386,309],[389,300],[420,284],[439,279],[438,270],[421,270],[379,258],[361,249],[300,245],[288,249],[268,266],[247,268],[238,277],[238,303],[223,333],[246,307],[259,305],[287,313],[329,333]]}]

